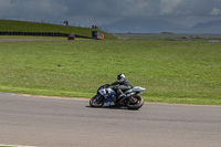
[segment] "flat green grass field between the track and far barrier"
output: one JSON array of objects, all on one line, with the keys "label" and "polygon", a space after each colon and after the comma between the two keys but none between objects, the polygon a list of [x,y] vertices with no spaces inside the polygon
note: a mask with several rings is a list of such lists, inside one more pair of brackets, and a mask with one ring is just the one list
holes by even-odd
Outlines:
[{"label": "flat green grass field between the track and far barrier", "polygon": [[92,97],[119,73],[147,102],[221,105],[220,43],[0,42],[0,92]]}]

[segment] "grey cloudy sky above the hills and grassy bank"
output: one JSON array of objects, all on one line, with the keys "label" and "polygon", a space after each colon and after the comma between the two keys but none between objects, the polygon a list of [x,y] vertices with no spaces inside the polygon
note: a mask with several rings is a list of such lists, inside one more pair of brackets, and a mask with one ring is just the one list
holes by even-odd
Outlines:
[{"label": "grey cloudy sky above the hills and grassy bank", "polygon": [[157,18],[192,27],[221,20],[221,0],[0,0],[0,19],[75,25],[103,25],[134,18]]}]

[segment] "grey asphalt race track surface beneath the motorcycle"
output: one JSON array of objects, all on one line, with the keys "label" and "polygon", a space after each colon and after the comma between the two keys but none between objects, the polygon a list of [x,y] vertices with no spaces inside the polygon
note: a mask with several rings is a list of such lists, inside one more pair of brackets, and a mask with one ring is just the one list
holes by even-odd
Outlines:
[{"label": "grey asphalt race track surface beneath the motorcycle", "polygon": [[49,147],[220,147],[221,107],[88,101],[0,93],[0,144]]}]

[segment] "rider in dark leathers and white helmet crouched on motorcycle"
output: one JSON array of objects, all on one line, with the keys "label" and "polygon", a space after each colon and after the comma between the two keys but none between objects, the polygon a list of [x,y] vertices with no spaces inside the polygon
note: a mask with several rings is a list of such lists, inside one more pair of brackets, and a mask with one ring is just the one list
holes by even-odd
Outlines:
[{"label": "rider in dark leathers and white helmet crouched on motorcycle", "polygon": [[[118,84],[118,85],[117,85]],[[131,84],[129,83],[128,80],[125,78],[125,75],[124,74],[119,74],[117,76],[117,81],[112,83],[112,84],[107,84],[108,86],[113,86],[113,85],[117,85],[117,86],[114,86],[114,91],[117,92],[117,99],[126,96],[123,92],[125,91],[128,91],[130,88],[133,88]]]}]

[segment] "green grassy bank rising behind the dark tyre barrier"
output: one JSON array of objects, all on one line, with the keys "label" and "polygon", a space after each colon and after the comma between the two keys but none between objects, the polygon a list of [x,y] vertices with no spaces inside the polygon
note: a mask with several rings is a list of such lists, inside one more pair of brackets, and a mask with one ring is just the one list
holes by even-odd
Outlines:
[{"label": "green grassy bank rising behind the dark tyre barrier", "polygon": [[[60,32],[60,33],[75,33],[77,35],[92,36],[92,31],[95,29],[78,28],[70,25],[57,25],[49,23],[36,23],[14,20],[0,20],[0,31],[14,31],[14,32]],[[113,35],[103,32],[105,39],[115,39]]]}]

